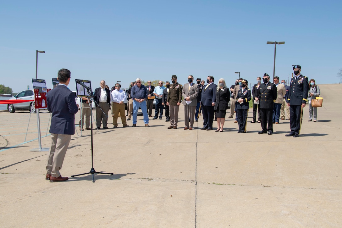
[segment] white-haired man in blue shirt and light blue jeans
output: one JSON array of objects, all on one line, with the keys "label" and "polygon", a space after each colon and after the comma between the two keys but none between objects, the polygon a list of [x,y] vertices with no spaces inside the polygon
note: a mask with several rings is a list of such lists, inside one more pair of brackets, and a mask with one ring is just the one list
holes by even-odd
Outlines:
[{"label": "white-haired man in blue shirt and light blue jeans", "polygon": [[136,85],[132,87],[131,98],[133,99],[133,126],[136,127],[136,115],[138,114],[139,107],[144,115],[145,127],[148,125],[148,114],[146,107],[147,89],[144,85],[141,85],[141,79],[137,78]]}]

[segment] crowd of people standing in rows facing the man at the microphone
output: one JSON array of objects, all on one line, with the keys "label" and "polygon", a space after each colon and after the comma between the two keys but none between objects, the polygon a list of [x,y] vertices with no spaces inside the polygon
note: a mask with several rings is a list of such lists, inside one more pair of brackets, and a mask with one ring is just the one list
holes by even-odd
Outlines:
[{"label": "crowd of people standing in rows facing the man at the microphone", "polygon": [[[149,117],[152,120],[166,118],[170,122],[168,129],[177,129],[179,119],[179,106],[184,105],[184,130],[192,130],[194,122],[198,122],[200,115],[203,117],[203,127],[201,130],[213,130],[213,121],[217,122],[216,132],[224,130],[224,123],[228,104],[231,110],[228,118],[234,118],[238,123],[238,133],[247,131],[247,116],[250,101],[253,107],[253,118],[250,123],[260,123],[259,134],[273,134],[273,124],[289,119],[291,132],[286,136],[298,137],[302,123],[303,107],[309,103],[309,121],[317,121],[317,108],[311,106],[311,100],[320,95],[319,87],[315,80],[309,80],[303,76],[301,66],[293,66],[294,77],[289,85],[279,77],[270,81],[268,74],[257,77],[257,83],[250,89],[248,80],[239,78],[235,80],[230,88],[226,81],[220,78],[218,85],[214,84],[214,77],[207,77],[207,84],[201,78],[196,81],[192,75],[187,77],[188,82],[181,85],[177,82],[177,76],[171,76],[171,83],[158,81],[158,86],[153,86],[147,81],[147,85],[142,85],[142,80],[136,78],[130,83],[130,88],[126,93],[121,90],[119,83],[115,84],[111,90],[105,81],[100,82],[100,87],[95,89],[96,125],[101,129],[107,127],[107,113],[109,108],[113,117],[113,127],[117,128],[117,119],[121,117],[122,127],[129,127],[128,121],[132,119],[132,127],[136,127],[138,110],[141,109],[145,127],[149,127]],[[310,87],[310,88],[309,88]],[[128,100],[128,101],[127,101]],[[153,102],[155,100],[155,112],[152,116]],[[88,99],[82,98],[82,107],[88,107]],[[125,103],[127,101],[127,114],[125,113]],[[165,113],[164,113],[165,110]],[[258,115],[257,115],[258,114]],[[89,127],[90,111],[82,113],[80,116],[80,130],[83,126],[83,116],[86,116],[86,129]],[[126,119],[126,116],[128,117]]]}]

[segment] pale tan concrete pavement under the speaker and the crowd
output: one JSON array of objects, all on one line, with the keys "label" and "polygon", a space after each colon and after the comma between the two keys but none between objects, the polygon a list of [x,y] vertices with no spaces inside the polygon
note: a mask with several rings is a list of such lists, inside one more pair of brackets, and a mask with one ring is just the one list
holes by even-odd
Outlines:
[{"label": "pale tan concrete pavement under the speaker and the crowd", "polygon": [[[299,138],[285,137],[289,121],[257,134],[252,110],[246,134],[228,118],[223,132],[200,130],[202,117],[183,130],[183,105],[175,130],[153,117],[146,128],[142,116],[122,128],[119,118],[118,128],[94,131],[94,168],[114,173],[95,183],[71,178],[90,171],[90,131],[71,138],[61,169],[70,179],[50,183],[48,152],[29,151],[36,114],[23,143],[30,114],[0,113],[0,227],[341,227],[342,85],[319,87],[318,121],[307,122],[305,107]],[[49,118],[40,113],[44,136]],[[41,141],[50,147],[50,136]]]}]

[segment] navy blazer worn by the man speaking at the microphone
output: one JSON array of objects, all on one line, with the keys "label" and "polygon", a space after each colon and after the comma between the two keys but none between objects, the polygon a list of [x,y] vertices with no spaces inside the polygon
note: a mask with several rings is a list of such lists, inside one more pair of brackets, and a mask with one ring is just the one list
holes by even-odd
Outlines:
[{"label": "navy blazer worn by the man speaking at the microphone", "polygon": [[75,93],[66,86],[58,85],[47,94],[48,110],[51,112],[50,133],[75,134],[75,114],[78,107],[75,101]]}]

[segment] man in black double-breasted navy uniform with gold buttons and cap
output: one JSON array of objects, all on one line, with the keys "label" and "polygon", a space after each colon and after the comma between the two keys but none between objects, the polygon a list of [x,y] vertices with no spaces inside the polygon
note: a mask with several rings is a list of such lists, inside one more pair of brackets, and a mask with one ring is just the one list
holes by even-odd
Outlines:
[{"label": "man in black double-breasted navy uniform with gold buttons and cap", "polygon": [[274,107],[274,101],[277,99],[277,87],[273,83],[269,82],[269,75],[266,73],[264,74],[263,81],[264,83],[262,83],[258,88],[258,98],[255,98],[255,100],[259,100],[261,112],[262,130],[258,133],[266,134],[268,132],[268,135],[272,135],[272,112]]}]

